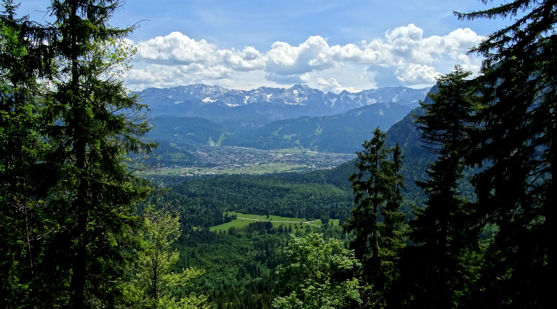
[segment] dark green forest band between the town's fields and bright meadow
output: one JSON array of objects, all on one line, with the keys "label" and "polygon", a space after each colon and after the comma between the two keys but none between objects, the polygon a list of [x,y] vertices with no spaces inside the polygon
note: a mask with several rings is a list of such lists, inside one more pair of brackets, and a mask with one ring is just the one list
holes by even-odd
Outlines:
[{"label": "dark green forest band between the town's fields and bright meadow", "polygon": [[154,193],[148,203],[168,205],[180,213],[187,227],[224,223],[223,212],[294,218],[344,219],[350,216],[353,195],[327,183],[286,181],[275,177],[214,176],[173,182],[156,178],[169,192]]}]

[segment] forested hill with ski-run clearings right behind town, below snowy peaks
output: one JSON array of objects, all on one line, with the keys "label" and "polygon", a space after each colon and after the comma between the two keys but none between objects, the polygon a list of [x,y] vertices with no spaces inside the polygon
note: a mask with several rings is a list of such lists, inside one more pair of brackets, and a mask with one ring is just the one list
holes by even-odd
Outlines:
[{"label": "forested hill with ski-run clearings right behind town, below snowy peaks", "polygon": [[371,131],[387,129],[411,110],[397,103],[365,105],[334,116],[300,117],[273,121],[223,141],[258,149],[301,147],[319,152],[354,153]]}]

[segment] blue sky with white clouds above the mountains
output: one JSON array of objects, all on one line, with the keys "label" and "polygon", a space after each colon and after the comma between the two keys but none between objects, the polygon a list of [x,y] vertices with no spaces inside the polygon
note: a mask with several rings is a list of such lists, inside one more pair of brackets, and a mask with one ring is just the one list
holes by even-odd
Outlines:
[{"label": "blue sky with white clouds above the mountains", "polygon": [[[49,3],[25,0],[19,13],[48,19]],[[475,0],[128,0],[110,23],[139,26],[128,37],[137,47],[126,73],[131,90],[304,83],[339,93],[428,87],[455,64],[476,74],[481,58],[466,52],[510,21],[458,21],[452,12],[487,7]]]}]

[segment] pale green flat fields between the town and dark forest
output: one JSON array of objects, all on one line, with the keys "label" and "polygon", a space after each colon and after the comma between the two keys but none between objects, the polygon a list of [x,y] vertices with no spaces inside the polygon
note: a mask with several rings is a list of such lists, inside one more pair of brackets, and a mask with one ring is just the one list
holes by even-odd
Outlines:
[{"label": "pale green flat fields between the town and dark forest", "polygon": [[196,175],[224,175],[224,174],[265,174],[265,173],[284,173],[297,172],[306,168],[305,165],[289,165],[286,163],[265,163],[252,166],[238,166],[227,170],[213,170],[212,168],[203,167],[185,167],[185,168],[165,168],[152,172],[145,172],[145,175],[160,176],[196,176]]}]

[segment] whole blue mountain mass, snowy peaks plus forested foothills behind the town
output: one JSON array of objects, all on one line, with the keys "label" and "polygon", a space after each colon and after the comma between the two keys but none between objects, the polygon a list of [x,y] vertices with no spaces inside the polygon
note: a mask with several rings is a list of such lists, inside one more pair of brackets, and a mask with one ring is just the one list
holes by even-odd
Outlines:
[{"label": "whole blue mountain mass, snowy peaks plus forested foothills behind the town", "polygon": [[219,146],[353,153],[375,127],[387,130],[428,91],[382,87],[335,94],[304,84],[251,91],[193,84],[138,94],[155,116],[150,136],[187,149],[212,138]]}]

